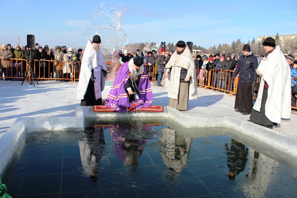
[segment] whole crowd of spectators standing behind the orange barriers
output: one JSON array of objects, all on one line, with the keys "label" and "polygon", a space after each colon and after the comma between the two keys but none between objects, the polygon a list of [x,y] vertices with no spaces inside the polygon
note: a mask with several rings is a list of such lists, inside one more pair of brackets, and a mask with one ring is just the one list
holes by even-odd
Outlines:
[{"label": "whole crowd of spectators standing behind the orange barriers", "polygon": [[[67,79],[64,81],[69,81],[71,71],[71,65],[74,64],[75,71],[72,76],[75,75],[78,78],[79,66],[77,62],[82,60],[84,50],[78,49],[73,52],[73,48],[66,46],[56,46],[54,49],[45,45],[42,47],[38,43],[35,44],[33,49],[27,46],[20,47],[15,45],[15,48],[10,44],[0,45],[0,59],[1,59],[1,74],[0,79],[3,77],[24,77],[26,75],[26,64],[25,61],[12,60],[24,59],[30,62],[34,66],[34,71],[36,77],[40,78],[54,78],[54,73],[56,73],[56,78]],[[117,57],[119,61],[123,64],[129,61],[135,56],[140,56],[143,58],[143,66],[149,74],[149,80],[153,80],[153,73],[157,80],[157,86],[161,85],[161,77],[164,73],[164,68],[170,59],[174,50],[167,51],[166,43],[162,42],[159,51],[145,51],[145,53],[140,52],[139,49],[136,52],[129,53],[124,50],[122,53],[120,50],[117,52]],[[115,53],[114,53],[115,55]],[[203,87],[208,82],[208,77],[211,77],[211,86],[217,89],[222,89],[222,91],[232,91],[233,82],[231,79],[233,71],[237,67],[237,62],[242,56],[241,52],[238,52],[233,57],[230,53],[227,54],[210,54],[210,55],[193,55],[193,59],[196,66],[196,74],[198,78],[198,86]],[[284,54],[288,64],[291,69],[291,86],[297,85],[297,52],[292,54]],[[8,60],[8,61],[7,61]],[[260,60],[265,60],[265,56],[257,57],[258,62]],[[76,64],[75,64],[76,63]],[[208,72],[213,71],[211,75]],[[74,74],[75,73],[75,74]],[[5,78],[5,80],[9,80]],[[13,80],[13,78],[10,78]],[[60,80],[62,81],[62,80]],[[258,82],[257,82],[258,83]],[[257,90],[257,86],[255,88]],[[256,92],[256,91],[255,91]],[[254,93],[254,97],[257,95]],[[296,106],[297,94],[292,94],[292,106]]]}]

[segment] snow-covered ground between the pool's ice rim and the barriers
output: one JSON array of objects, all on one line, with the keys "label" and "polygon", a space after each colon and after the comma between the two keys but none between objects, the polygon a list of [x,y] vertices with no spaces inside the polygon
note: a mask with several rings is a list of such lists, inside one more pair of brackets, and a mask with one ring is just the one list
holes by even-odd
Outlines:
[{"label": "snow-covered ground between the pool's ice rim and the barriers", "polygon": [[[41,81],[39,85],[29,85],[22,81],[0,81],[0,137],[19,117],[62,117],[75,116],[75,106],[80,105],[76,99],[78,82]],[[112,83],[108,83],[109,85]],[[152,85],[154,105],[168,106],[169,98],[162,87]],[[102,98],[106,98],[110,86],[106,85]],[[189,109],[180,113],[186,115],[232,115],[247,121],[249,115],[234,112],[235,96],[228,96],[218,91],[198,88],[198,99],[189,101]],[[297,139],[296,114],[290,120],[282,120],[280,126],[273,130]],[[197,120],[199,122],[199,120]]]}]

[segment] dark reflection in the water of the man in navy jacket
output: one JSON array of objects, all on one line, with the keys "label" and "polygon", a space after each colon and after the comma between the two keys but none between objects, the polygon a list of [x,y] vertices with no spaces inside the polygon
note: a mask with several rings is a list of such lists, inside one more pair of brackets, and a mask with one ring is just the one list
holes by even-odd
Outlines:
[{"label": "dark reflection in the water of the man in navy jacket", "polygon": [[225,149],[227,151],[227,165],[230,171],[228,177],[230,180],[235,180],[235,176],[245,169],[249,149],[245,148],[245,145],[241,142],[238,142],[232,138],[231,148],[229,148],[228,144],[226,143]]}]

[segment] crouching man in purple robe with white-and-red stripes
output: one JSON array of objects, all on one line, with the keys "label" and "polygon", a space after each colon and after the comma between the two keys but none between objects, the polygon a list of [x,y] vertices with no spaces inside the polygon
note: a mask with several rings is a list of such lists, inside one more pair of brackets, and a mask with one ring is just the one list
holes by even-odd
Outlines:
[{"label": "crouching man in purple robe with white-and-red stripes", "polygon": [[142,64],[143,58],[136,56],[120,67],[107,96],[106,106],[118,112],[151,106],[153,93]]}]

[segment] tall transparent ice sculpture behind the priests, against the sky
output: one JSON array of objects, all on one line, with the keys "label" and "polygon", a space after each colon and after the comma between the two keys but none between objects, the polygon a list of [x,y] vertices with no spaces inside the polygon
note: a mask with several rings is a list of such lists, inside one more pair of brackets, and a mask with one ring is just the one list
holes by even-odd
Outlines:
[{"label": "tall transparent ice sculpture behind the priests, against the sky", "polygon": [[95,34],[101,37],[100,49],[108,70],[107,80],[114,79],[114,74],[121,66],[119,58],[114,57],[113,52],[123,50],[123,47],[128,44],[128,37],[123,30],[116,30],[119,19],[113,13],[114,8],[110,4],[102,3],[97,8],[97,12],[93,12],[91,16],[93,27],[98,26],[98,29],[86,27],[86,31],[82,34],[82,41],[85,45],[88,39],[92,39]]}]

